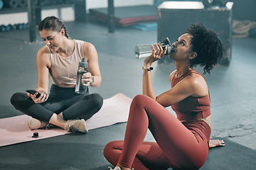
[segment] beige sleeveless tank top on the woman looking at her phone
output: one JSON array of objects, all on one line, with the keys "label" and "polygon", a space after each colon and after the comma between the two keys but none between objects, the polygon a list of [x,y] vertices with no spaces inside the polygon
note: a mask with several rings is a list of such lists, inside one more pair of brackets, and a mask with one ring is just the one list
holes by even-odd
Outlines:
[{"label": "beige sleeveless tank top on the woman looking at her phone", "polygon": [[53,53],[46,46],[50,57],[50,76],[54,85],[75,85],[78,64],[84,57],[83,43],[82,40],[75,40],[75,50],[68,57],[62,57],[58,53]]}]

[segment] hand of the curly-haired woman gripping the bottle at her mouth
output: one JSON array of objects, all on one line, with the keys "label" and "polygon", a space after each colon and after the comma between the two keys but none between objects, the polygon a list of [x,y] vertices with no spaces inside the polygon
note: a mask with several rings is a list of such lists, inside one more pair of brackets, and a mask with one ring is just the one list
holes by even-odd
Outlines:
[{"label": "hand of the curly-haired woman gripping the bottle at her mouth", "polygon": [[[156,46],[156,50],[154,49],[154,45]],[[163,50],[160,44],[155,43],[154,45],[151,45],[152,54],[149,57],[146,57],[146,59],[144,60],[144,66],[150,67],[153,62],[161,59],[161,57],[166,54],[167,47],[165,47]]]}]

